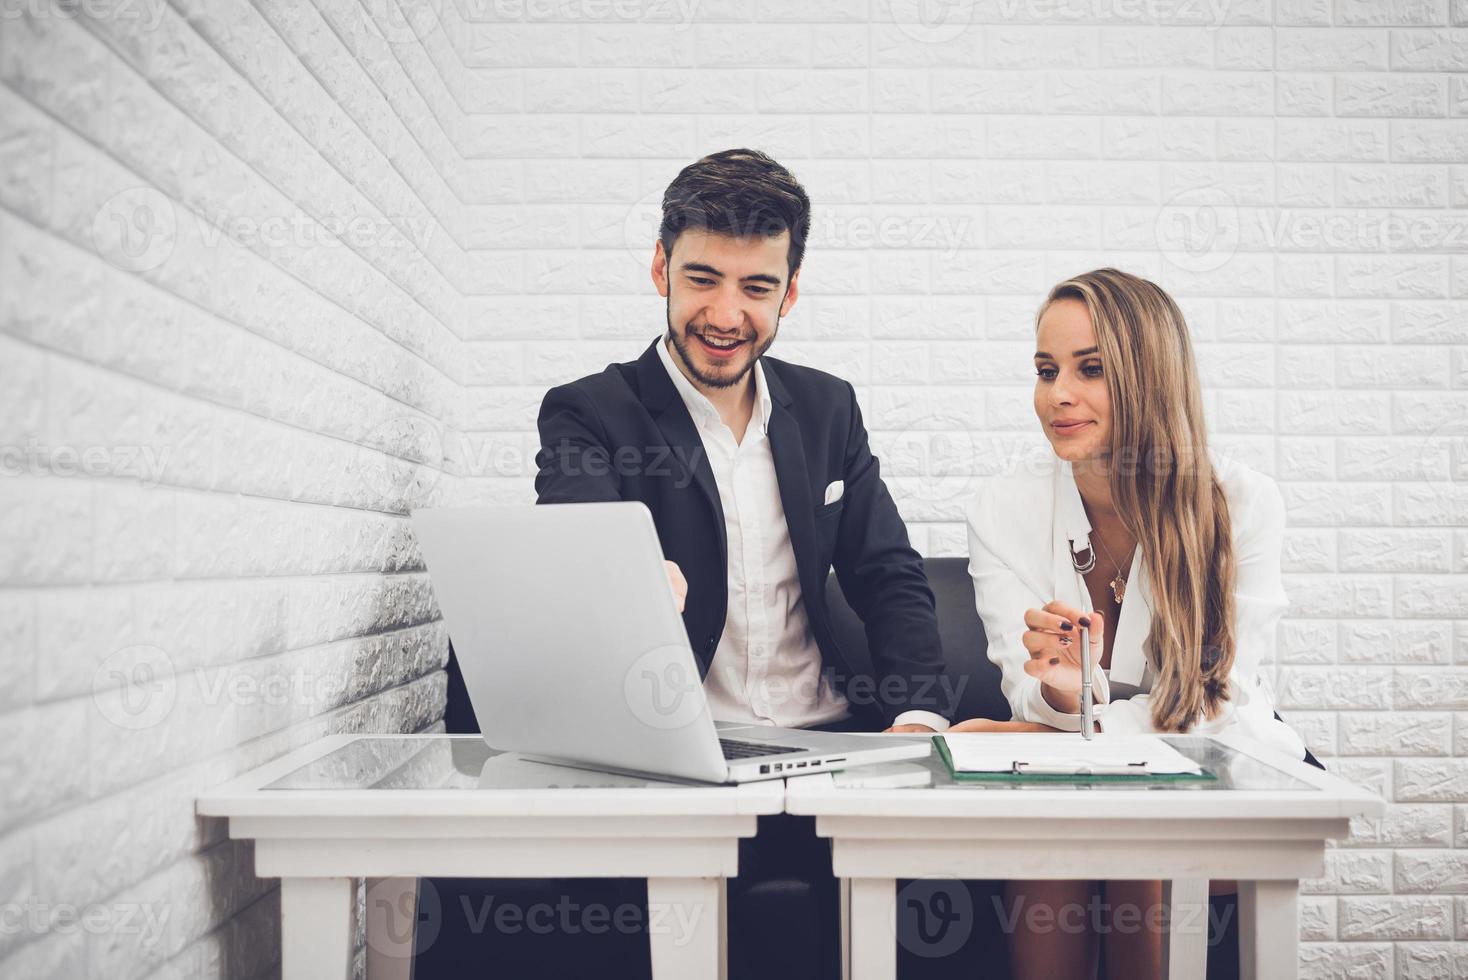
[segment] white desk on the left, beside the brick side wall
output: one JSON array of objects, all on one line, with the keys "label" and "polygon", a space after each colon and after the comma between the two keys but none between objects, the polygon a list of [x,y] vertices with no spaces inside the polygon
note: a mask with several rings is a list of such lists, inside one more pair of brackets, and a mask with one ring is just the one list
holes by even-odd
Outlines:
[{"label": "white desk on the left, beside the brick side wall", "polygon": [[780,780],[693,786],[527,763],[479,736],[333,735],[198,813],[228,817],[229,836],[254,839],[255,873],[280,879],[283,980],[349,976],[357,877],[385,879],[368,920],[395,918],[380,942],[368,923],[368,957],[410,952],[432,910],[398,882],[426,876],[646,877],[653,974],[687,980],[724,974],[738,839],[782,801]]}]

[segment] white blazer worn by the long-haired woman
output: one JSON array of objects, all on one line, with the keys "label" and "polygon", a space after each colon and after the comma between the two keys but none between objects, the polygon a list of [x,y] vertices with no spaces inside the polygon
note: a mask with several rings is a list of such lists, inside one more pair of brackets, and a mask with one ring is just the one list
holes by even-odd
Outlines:
[{"label": "white blazer worn by the long-haired woman", "polygon": [[[1248,467],[1211,456],[1229,502],[1233,555],[1238,562],[1235,637],[1238,651],[1229,675],[1230,700],[1214,719],[1199,714],[1199,734],[1248,735],[1292,758],[1304,758],[1305,744],[1274,719],[1273,695],[1264,679],[1274,662],[1276,628],[1289,607],[1280,569],[1284,500],[1274,481]],[[1070,557],[1089,547],[1091,522],[1070,464],[1044,452],[1028,456],[1017,472],[984,481],[969,509],[969,574],[989,660],[1004,672],[1004,697],[1016,720],[1080,731],[1080,716],[1057,712],[1041,694],[1039,679],[1025,673],[1029,651],[1020,643],[1025,610],[1060,600],[1082,607],[1083,579]],[[1089,601],[1089,597],[1086,597]],[[1107,732],[1152,732],[1152,668],[1144,643],[1152,625],[1151,588],[1136,549],[1126,575],[1126,593],[1114,632],[1111,668],[1097,665],[1092,690],[1097,719]],[[1111,682],[1135,691],[1111,701]]]}]

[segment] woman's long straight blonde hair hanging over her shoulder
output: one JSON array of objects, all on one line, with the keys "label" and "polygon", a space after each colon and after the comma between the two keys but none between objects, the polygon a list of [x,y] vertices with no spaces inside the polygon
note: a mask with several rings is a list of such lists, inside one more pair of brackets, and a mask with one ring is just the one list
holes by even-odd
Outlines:
[{"label": "woman's long straight blonde hair hanging over her shoulder", "polygon": [[1067,279],[1041,307],[1091,314],[1111,398],[1111,500],[1151,577],[1152,725],[1216,717],[1233,669],[1235,559],[1229,505],[1208,459],[1188,324],[1171,296],[1116,268]]}]

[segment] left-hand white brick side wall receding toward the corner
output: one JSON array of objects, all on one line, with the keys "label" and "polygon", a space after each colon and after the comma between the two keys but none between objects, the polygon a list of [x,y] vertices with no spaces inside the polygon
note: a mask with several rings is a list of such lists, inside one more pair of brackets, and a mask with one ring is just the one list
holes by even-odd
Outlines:
[{"label": "left-hand white brick side wall receding toward the corner", "polygon": [[272,976],[195,794],[442,716],[464,116],[371,6],[0,9],[0,976]]}]

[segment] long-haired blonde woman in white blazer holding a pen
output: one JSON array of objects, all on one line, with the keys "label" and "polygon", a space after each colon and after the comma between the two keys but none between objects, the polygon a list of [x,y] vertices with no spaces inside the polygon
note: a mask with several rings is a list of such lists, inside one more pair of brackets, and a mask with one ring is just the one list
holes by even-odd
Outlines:
[{"label": "long-haired blonde woman in white blazer holding a pen", "polygon": [[[1036,334],[1035,415],[1054,456],[986,481],[969,512],[969,572],[1014,720],[953,731],[1079,731],[1089,626],[1102,732],[1229,731],[1305,757],[1261,673],[1287,606],[1284,505],[1271,480],[1208,452],[1177,305],[1101,268],[1050,292]],[[1161,885],[1011,882],[1007,895],[1051,905],[1050,921],[1079,904],[1091,923],[1094,901],[1147,913]],[[1014,976],[1091,976],[1097,946],[1089,927],[1020,932]],[[1160,976],[1161,936],[1107,930],[1105,958],[1110,977]]]}]

